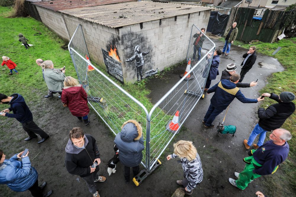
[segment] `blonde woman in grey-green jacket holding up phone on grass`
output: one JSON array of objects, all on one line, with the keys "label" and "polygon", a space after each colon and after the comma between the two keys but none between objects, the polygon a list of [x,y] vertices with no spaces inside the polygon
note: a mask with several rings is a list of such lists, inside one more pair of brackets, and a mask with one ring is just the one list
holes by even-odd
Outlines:
[{"label": "blonde woman in grey-green jacket holding up phone on grass", "polygon": [[45,98],[53,97],[53,94],[59,93],[59,98],[62,95],[62,88],[64,87],[65,69],[55,69],[54,64],[50,60],[44,61],[42,64],[44,69],[44,80],[49,90],[52,93],[44,96]]}]

